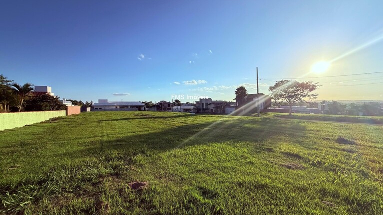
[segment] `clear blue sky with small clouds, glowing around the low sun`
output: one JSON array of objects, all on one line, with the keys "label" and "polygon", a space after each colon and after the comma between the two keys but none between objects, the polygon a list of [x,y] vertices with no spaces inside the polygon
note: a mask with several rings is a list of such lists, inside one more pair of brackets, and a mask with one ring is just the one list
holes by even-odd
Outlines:
[{"label": "clear blue sky with small clouds, glowing around the low sun", "polygon": [[[0,74],[82,101],[231,100],[239,85],[256,93],[256,67],[259,78],[383,71],[381,8],[381,0],[1,1]],[[383,100],[383,73],[312,80],[322,85],[318,99]],[[260,80],[260,92],[273,82]]]}]

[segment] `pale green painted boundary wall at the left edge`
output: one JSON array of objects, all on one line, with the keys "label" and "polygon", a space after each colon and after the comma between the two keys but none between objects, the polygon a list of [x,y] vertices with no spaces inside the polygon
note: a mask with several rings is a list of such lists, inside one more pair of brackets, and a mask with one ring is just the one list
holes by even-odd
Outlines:
[{"label": "pale green painted boundary wall at the left edge", "polygon": [[65,116],[64,110],[0,113],[0,131],[42,122],[50,118]]}]

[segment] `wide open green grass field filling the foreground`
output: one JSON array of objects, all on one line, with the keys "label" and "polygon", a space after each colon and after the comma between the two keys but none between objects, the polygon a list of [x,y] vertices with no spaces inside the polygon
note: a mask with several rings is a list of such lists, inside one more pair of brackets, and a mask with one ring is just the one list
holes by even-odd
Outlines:
[{"label": "wide open green grass field filling the foreground", "polygon": [[383,214],[381,125],[87,112],[1,131],[0,168],[0,214]]}]

